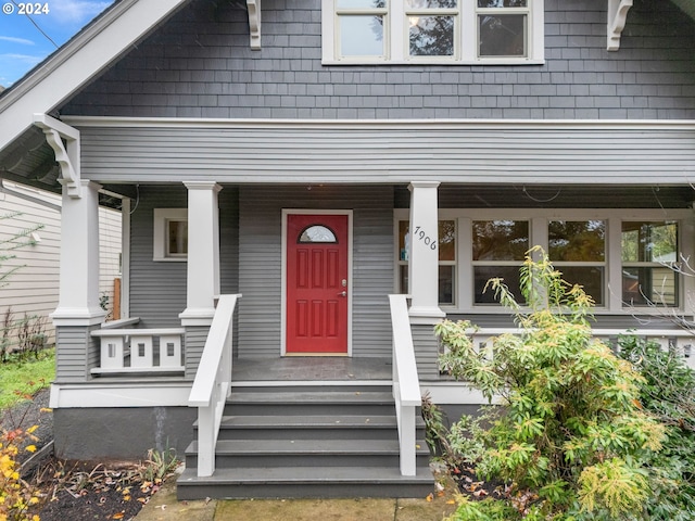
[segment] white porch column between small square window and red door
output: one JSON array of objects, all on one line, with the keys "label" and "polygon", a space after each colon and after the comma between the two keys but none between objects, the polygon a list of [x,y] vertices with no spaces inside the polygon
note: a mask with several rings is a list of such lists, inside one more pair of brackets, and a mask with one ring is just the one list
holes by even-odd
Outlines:
[{"label": "white porch column between small square window and red door", "polygon": [[185,182],[188,189],[188,283],[182,326],[210,326],[219,295],[219,207],[222,187],[212,181]]}]

